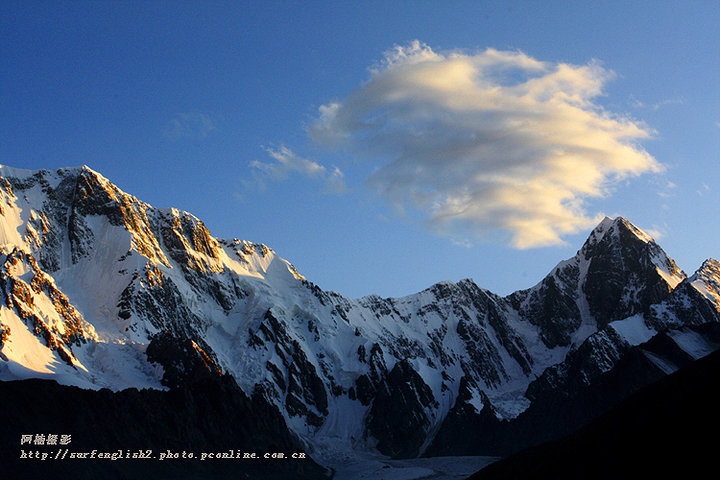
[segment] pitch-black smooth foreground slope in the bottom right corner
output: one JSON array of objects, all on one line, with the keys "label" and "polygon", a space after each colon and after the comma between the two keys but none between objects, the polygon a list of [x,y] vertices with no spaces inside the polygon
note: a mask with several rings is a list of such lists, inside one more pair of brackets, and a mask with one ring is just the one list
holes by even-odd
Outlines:
[{"label": "pitch-black smooth foreground slope in the bottom right corner", "polygon": [[[710,326],[710,325],[705,325]],[[713,325],[717,327],[718,325]],[[468,480],[702,478],[720,427],[714,352],[633,393],[582,429],[486,467]]]}]

